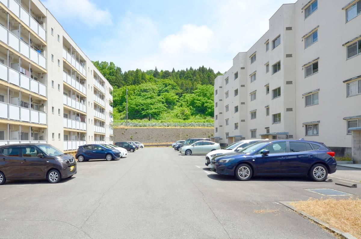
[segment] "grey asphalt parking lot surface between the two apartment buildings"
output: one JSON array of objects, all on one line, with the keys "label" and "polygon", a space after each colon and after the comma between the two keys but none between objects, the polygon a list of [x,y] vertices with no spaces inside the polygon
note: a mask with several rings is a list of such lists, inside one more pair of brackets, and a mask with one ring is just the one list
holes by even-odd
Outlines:
[{"label": "grey asphalt parking lot surface between the two apartment buildings", "polygon": [[[144,148],[78,163],[57,184],[8,181],[0,186],[0,238],[334,238],[278,202],[322,197],[310,188],[361,195],[307,178],[240,182],[210,171],[204,158]],[[338,167],[329,178],[360,182],[361,171]]]}]

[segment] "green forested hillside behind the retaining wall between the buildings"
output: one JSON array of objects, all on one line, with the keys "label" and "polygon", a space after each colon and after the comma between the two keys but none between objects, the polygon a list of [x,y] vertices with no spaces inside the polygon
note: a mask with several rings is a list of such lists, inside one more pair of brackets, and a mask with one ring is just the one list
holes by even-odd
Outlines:
[{"label": "green forested hillside behind the retaining wall between the buildings", "polygon": [[204,66],[172,71],[140,69],[122,72],[113,62],[93,64],[113,86],[114,122],[213,122],[214,79]]}]

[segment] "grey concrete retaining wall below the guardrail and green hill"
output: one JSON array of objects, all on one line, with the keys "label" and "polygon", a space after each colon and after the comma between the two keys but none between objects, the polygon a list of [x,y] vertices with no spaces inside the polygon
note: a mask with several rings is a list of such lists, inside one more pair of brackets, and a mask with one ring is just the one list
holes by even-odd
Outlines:
[{"label": "grey concrete retaining wall below the guardrail and green hill", "polygon": [[213,127],[114,127],[114,143],[173,143],[187,138],[210,138],[213,134]]}]

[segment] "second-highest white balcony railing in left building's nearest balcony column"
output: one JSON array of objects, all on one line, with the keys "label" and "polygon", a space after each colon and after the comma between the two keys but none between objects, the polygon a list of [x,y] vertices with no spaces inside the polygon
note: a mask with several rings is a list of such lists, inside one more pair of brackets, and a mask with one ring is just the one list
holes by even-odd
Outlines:
[{"label": "second-highest white balcony railing in left building's nearest balcony column", "polygon": [[46,69],[46,58],[39,52],[32,49],[26,42],[14,35],[8,29],[0,25],[0,40],[8,44],[14,50],[20,52],[26,58]]}]

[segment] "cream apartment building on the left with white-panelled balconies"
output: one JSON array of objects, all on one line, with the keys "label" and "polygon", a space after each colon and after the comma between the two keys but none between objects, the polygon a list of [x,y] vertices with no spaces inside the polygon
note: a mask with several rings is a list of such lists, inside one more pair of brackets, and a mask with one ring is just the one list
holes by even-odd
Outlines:
[{"label": "cream apartment building on the left with white-panelled balconies", "polygon": [[0,144],[113,141],[113,87],[39,0],[0,0]]}]

